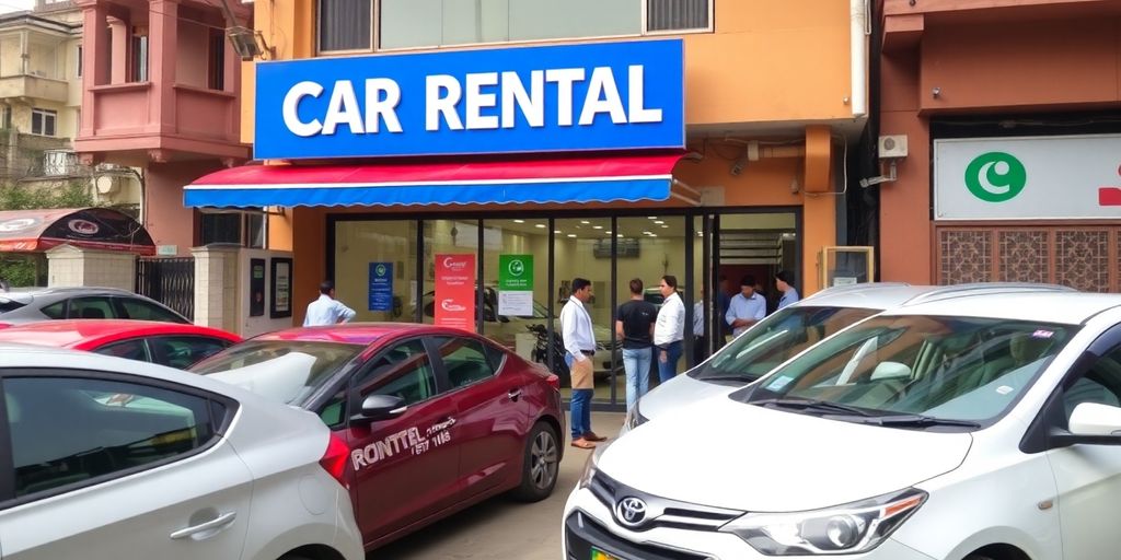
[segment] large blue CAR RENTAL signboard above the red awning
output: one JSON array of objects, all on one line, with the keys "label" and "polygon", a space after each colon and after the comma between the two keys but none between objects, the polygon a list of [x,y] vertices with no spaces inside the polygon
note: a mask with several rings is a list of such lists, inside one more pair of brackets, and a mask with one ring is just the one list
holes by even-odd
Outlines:
[{"label": "large blue CAR RENTAL signboard above the red awning", "polygon": [[680,39],[257,65],[254,157],[684,148]]}]

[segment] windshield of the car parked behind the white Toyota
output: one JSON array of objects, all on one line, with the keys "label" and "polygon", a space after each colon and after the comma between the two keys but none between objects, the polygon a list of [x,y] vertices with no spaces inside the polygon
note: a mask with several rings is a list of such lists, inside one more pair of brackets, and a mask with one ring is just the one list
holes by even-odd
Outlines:
[{"label": "windshield of the car parked behind the white Toyota", "polygon": [[698,380],[754,381],[825,337],[878,312],[852,307],[778,310],[689,373]]}]

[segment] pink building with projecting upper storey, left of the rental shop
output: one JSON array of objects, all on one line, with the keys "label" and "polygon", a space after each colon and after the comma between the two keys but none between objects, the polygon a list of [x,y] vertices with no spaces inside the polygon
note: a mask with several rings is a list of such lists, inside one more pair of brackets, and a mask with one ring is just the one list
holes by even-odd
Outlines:
[{"label": "pink building with projecting upper storey, left of the rental shop", "polygon": [[[83,96],[75,151],[82,162],[142,170],[141,221],[157,245],[254,244],[240,215],[183,206],[183,186],[250,157],[240,141],[240,60],[225,37],[250,11],[222,0],[78,0]],[[164,248],[165,252],[170,246]]]}]

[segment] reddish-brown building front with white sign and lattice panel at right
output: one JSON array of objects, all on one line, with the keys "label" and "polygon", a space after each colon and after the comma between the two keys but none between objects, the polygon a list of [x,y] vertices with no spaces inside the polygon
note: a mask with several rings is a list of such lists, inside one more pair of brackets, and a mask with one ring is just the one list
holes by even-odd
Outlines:
[{"label": "reddish-brown building front with white sign and lattice panel at right", "polygon": [[882,277],[1121,290],[1121,2],[877,9]]}]

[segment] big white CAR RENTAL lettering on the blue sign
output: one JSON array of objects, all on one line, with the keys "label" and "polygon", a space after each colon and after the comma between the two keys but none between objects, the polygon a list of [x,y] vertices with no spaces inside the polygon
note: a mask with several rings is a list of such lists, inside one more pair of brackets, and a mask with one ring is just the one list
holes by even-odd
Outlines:
[{"label": "big white CAR RENTAL lettering on the blue sign", "polygon": [[[641,65],[627,68],[624,104],[614,71],[609,66],[595,67],[591,75],[584,68],[532,71],[528,84],[517,72],[466,74],[462,83],[452,75],[434,74],[425,78],[424,127],[430,132],[512,129],[521,113],[530,128],[541,128],[545,127],[545,105],[550,102],[556,103],[554,118],[559,127],[574,123],[591,127],[600,114],[610,116],[612,124],[661,122],[663,110],[646,106],[645,77]],[[573,99],[576,84],[585,81],[584,99]],[[546,84],[556,84],[555,100],[546,99]],[[340,127],[346,127],[352,134],[402,132],[397,115],[404,97],[400,85],[388,77],[371,77],[363,86],[355,88],[349,80],[334,82],[323,119],[302,120],[300,102],[305,97],[321,97],[325,87],[311,81],[299,82],[285,94],[284,123],[294,134],[304,138],[332,136]]]}]

